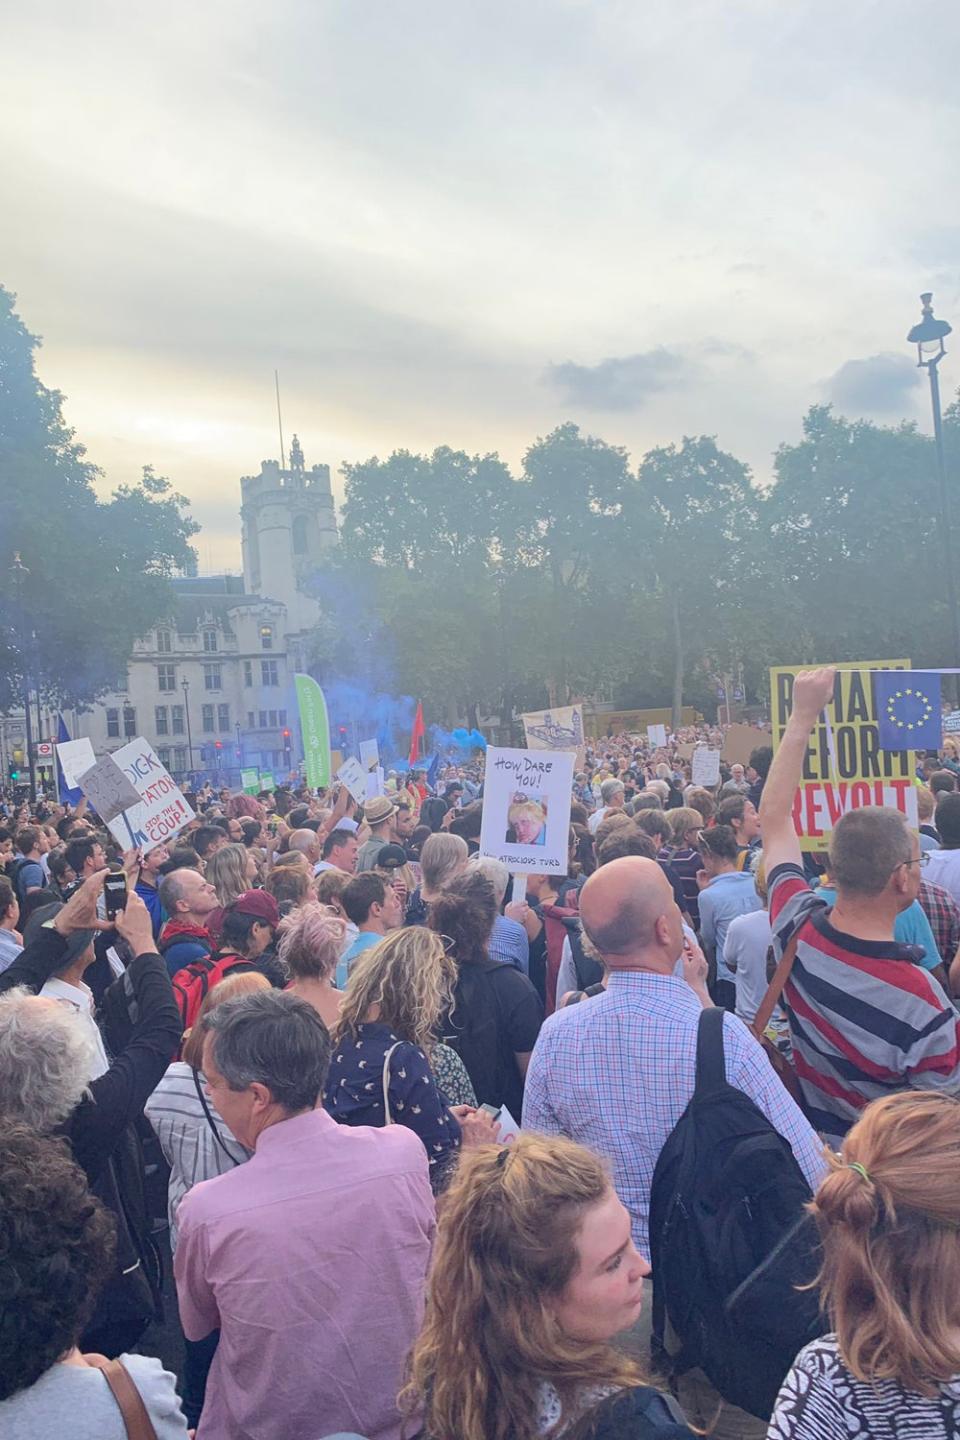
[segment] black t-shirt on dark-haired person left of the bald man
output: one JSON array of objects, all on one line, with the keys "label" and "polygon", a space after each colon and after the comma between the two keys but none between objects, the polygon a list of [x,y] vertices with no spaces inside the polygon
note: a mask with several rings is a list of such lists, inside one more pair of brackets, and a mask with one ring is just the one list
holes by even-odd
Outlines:
[{"label": "black t-shirt on dark-haired person left of the bald man", "polygon": [[512,965],[461,965],[443,1038],[466,1066],[479,1104],[505,1104],[517,1123],[524,1081],[514,1057],[534,1048],[541,1024],[540,995]]}]

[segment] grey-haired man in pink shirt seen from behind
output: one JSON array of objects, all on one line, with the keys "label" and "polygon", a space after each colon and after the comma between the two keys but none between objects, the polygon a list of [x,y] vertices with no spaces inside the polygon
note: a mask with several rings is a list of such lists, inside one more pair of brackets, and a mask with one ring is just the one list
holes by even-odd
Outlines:
[{"label": "grey-haired man in pink shirt seen from behind", "polygon": [[197,1440],[400,1440],[435,1231],[423,1143],[315,1109],[330,1035],[295,995],[225,1001],[204,1030],[210,1100],[255,1153],[178,1211],[184,1333],[220,1331]]}]

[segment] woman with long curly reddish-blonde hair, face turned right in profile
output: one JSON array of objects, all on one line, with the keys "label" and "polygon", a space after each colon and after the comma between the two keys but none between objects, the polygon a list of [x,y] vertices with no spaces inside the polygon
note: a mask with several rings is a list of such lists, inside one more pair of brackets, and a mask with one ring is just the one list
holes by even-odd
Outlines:
[{"label": "woman with long curly reddish-blonde hair, face turned right in profile", "polygon": [[465,1153],[439,1210],[426,1320],[400,1395],[430,1440],[687,1437],[610,1341],[649,1266],[597,1156],[520,1135]]}]

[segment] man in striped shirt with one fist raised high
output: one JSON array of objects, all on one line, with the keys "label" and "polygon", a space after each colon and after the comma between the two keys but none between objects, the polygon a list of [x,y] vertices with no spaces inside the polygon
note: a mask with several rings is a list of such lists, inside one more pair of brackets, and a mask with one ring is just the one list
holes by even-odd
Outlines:
[{"label": "man in striped shirt with one fist raised high", "polygon": [[917,946],[895,939],[925,860],[900,811],[868,805],[836,822],[832,909],[803,874],[793,796],[833,674],[797,675],[760,819],[777,960],[796,939],[783,991],[796,1071],[813,1126],[838,1143],[871,1100],[892,1090],[960,1094],[960,1020]]}]

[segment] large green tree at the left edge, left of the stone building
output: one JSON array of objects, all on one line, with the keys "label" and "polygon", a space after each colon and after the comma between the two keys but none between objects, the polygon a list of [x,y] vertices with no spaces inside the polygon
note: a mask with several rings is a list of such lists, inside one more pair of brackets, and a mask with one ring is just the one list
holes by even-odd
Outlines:
[{"label": "large green tree at the left edge, left of the stone building", "polygon": [[[147,467],[108,501],[98,471],[40,383],[39,346],[0,287],[0,711],[30,683],[83,706],[125,672],[138,635],[170,609],[170,576],[193,556],[186,501]],[[12,576],[14,554],[27,575]]]}]

